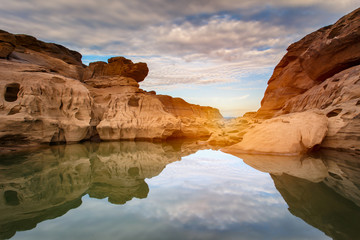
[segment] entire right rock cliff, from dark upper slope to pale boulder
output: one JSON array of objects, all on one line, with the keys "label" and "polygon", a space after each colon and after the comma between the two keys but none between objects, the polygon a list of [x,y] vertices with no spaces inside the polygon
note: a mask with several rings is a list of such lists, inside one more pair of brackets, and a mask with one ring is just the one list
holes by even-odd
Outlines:
[{"label": "entire right rock cliff, from dark upper slope to pale boulder", "polygon": [[287,51],[261,108],[250,121],[234,120],[215,140],[229,145],[238,139],[224,148],[235,155],[297,155],[319,147],[360,151],[360,8]]}]

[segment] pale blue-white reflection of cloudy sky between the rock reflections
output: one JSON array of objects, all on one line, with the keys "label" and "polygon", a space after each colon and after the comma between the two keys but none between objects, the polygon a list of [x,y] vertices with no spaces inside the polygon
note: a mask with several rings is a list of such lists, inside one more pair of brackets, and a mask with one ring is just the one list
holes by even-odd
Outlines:
[{"label": "pale blue-white reflection of cloudy sky between the rock reflections", "polygon": [[323,233],[288,212],[268,174],[231,155],[199,151],[146,182],[146,199],[119,206],[84,196],[81,207],[15,237],[324,239]]}]

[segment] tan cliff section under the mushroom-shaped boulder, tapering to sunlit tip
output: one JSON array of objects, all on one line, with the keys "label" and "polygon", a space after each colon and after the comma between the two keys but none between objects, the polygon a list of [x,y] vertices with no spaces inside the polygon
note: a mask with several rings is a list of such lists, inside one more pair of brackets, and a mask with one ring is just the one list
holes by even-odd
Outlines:
[{"label": "tan cliff section under the mushroom-shaped boulder, tapering to sunlit tip", "polygon": [[[110,62],[132,65],[123,58]],[[214,121],[222,118],[217,109],[143,91],[137,83],[142,79],[105,74],[84,80],[94,99],[93,122],[103,140],[208,137],[217,127]]]}]

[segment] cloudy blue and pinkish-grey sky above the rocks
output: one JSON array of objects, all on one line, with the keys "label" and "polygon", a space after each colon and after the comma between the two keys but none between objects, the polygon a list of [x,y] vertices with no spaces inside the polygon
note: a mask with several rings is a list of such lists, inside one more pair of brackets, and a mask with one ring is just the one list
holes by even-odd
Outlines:
[{"label": "cloudy blue and pinkish-grey sky above the rocks", "polygon": [[358,0],[0,0],[0,29],[64,45],[84,64],[146,62],[145,90],[256,111],[286,48],[360,7]]}]

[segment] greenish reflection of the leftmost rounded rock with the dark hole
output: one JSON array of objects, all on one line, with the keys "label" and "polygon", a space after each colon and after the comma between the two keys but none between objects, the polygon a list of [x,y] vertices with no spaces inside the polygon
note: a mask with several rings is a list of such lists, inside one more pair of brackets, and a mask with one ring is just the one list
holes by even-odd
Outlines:
[{"label": "greenish reflection of the leftmost rounded rock with the dark hole", "polygon": [[12,156],[9,165],[0,165],[0,238],[78,207],[90,183],[90,162],[81,145],[17,159],[22,161],[14,164]]}]

